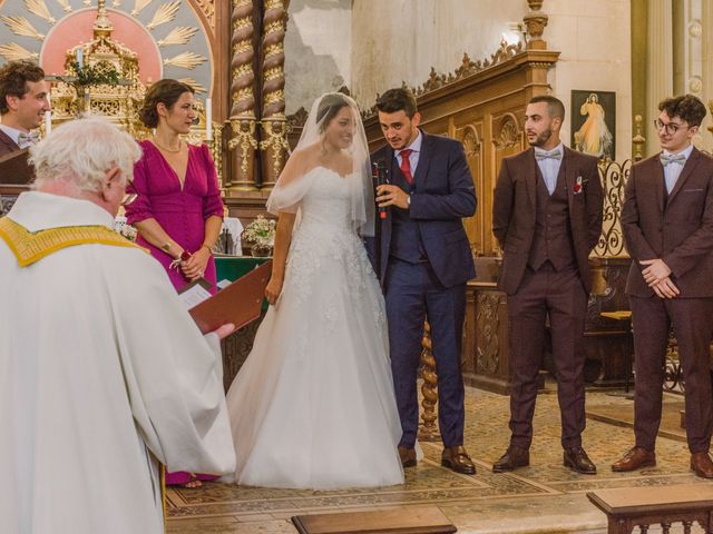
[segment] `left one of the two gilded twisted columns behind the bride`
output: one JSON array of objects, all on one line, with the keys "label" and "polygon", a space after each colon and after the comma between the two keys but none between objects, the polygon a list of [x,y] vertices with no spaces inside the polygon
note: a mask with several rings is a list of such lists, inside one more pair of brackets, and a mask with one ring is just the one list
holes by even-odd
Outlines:
[{"label": "left one of the two gilded twisted columns behind the bride", "polygon": [[255,150],[257,149],[255,96],[253,85],[253,0],[233,0],[231,48],[231,176],[224,187],[255,191]]}]

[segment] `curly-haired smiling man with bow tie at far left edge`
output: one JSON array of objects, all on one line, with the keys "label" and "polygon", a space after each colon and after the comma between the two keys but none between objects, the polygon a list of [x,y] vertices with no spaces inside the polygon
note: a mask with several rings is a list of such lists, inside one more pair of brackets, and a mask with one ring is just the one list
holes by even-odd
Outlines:
[{"label": "curly-haired smiling man with bow tie at far left edge", "polygon": [[31,130],[49,111],[45,71],[31,61],[10,61],[0,68],[0,156],[37,142]]}]

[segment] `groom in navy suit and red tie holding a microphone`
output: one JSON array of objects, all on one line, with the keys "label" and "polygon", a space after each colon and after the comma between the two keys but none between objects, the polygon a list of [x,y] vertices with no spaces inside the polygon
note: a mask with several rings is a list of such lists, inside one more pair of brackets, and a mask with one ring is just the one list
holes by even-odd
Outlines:
[{"label": "groom in navy suit and red tie holding a microphone", "polygon": [[[372,155],[390,169],[377,202],[381,222],[379,274],[387,301],[391,368],[403,436],[399,455],[416,465],[419,408],[417,374],[428,317],[438,373],[441,463],[458,473],[476,467],[463,448],[463,382],[460,348],[466,281],[476,276],[461,218],[476,212],[476,192],[462,145],[430,136],[408,89],[391,89],[377,102],[388,142]],[[373,258],[372,258],[373,259]]]}]

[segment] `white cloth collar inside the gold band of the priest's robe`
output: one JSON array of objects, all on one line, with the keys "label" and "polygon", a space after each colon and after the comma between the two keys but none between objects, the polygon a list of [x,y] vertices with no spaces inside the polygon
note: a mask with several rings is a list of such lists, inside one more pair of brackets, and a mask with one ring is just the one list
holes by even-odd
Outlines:
[{"label": "white cloth collar inside the gold band of the priest's robe", "polygon": [[8,217],[29,231],[66,226],[114,226],[114,217],[89,200],[40,191],[21,194]]}]

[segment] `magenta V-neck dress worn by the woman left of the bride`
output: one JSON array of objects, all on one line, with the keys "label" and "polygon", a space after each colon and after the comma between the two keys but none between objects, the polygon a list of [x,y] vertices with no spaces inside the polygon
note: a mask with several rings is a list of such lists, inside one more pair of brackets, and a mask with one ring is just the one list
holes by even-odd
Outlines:
[{"label": "magenta V-neck dress worn by the woman left of the bride", "polygon": [[[134,184],[127,189],[138,197],[126,207],[126,218],[130,225],[154,218],[170,238],[189,253],[196,251],[205,238],[205,220],[212,215],[223,218],[223,201],[218,189],[215,164],[206,145],[188,145],[188,168],[183,190],[173,167],[156,146],[139,141],[144,156],[134,167]],[[180,270],[169,269],[173,258],[146,239],[136,243],[150,250],[164,266],[176,290],[188,280]],[[215,261],[208,259],[204,278],[213,285],[215,293]],[[196,474],[198,479],[214,479],[213,475]],[[191,473],[166,473],[166,484],[185,484],[193,478]]]}]

